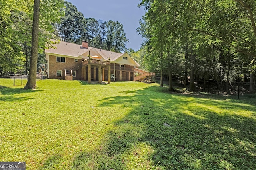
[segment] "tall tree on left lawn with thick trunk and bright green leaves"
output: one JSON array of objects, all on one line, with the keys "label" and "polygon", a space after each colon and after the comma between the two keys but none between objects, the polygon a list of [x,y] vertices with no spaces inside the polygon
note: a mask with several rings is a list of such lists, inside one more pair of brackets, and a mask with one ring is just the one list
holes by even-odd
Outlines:
[{"label": "tall tree on left lawn with thick trunk and bright green leaves", "polygon": [[52,23],[60,20],[62,7],[63,0],[34,0],[30,68],[25,89],[36,88],[38,52],[42,53],[46,44],[49,43],[53,32]]}]

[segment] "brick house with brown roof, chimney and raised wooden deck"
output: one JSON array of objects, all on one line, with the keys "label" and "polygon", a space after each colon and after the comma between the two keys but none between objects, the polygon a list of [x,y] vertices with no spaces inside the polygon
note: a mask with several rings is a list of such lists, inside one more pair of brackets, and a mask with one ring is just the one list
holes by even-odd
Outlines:
[{"label": "brick house with brown roof, chimney and raised wooden deck", "polygon": [[[51,40],[55,41],[55,40]],[[64,80],[134,81],[135,73],[141,72],[138,64],[127,53],[115,53],[60,41],[54,48],[45,49],[48,78]]]}]

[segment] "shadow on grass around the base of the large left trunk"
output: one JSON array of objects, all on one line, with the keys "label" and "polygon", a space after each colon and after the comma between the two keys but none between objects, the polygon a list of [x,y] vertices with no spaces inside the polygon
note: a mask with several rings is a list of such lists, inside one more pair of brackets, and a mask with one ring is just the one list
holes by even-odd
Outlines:
[{"label": "shadow on grass around the base of the large left trunk", "polygon": [[41,91],[41,90],[40,89],[24,90],[23,88],[10,88],[10,87],[6,87],[6,86],[2,86],[2,88],[0,88],[0,92],[1,92],[0,100],[2,100],[2,101],[28,100],[28,99],[32,99],[32,98],[17,97],[17,96],[15,96],[15,94],[34,93],[34,92],[38,92],[38,91]]}]

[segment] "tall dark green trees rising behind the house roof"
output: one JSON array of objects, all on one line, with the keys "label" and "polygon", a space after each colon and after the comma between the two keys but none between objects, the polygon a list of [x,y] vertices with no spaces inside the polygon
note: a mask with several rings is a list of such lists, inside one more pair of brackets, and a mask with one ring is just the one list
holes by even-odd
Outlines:
[{"label": "tall dark green trees rising behind the house roof", "polygon": [[82,40],[87,40],[91,47],[115,52],[125,51],[128,40],[120,22],[85,19],[76,6],[66,1],[62,11],[65,16],[61,18],[60,24],[54,24],[56,34],[62,41],[80,44]]}]

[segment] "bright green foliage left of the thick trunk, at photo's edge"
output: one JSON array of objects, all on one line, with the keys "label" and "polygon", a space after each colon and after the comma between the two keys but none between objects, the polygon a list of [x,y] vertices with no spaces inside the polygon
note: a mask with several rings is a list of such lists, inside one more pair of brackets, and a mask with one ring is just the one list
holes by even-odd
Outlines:
[{"label": "bright green foliage left of the thick trunk, at photo's edge", "polygon": [[[27,18],[30,11],[30,0],[0,0],[0,71],[10,72],[20,69],[25,59],[20,47],[22,33],[19,25]],[[27,26],[27,25],[26,25]],[[20,38],[21,37],[21,38]]]}]

